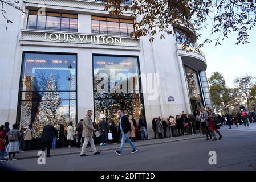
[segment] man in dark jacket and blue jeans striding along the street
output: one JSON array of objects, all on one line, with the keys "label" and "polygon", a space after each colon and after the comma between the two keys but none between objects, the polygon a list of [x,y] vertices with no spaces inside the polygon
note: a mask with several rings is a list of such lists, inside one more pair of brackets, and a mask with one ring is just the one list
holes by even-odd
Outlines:
[{"label": "man in dark jacket and blue jeans striding along the street", "polygon": [[129,119],[126,115],[123,114],[123,111],[121,111],[121,110],[117,111],[117,114],[119,115],[119,129],[122,134],[122,139],[121,139],[121,146],[120,146],[119,150],[115,151],[115,153],[117,155],[121,155],[123,152],[124,143],[125,143],[125,141],[127,141],[133,149],[131,153],[134,154],[138,150],[137,150],[136,146],[132,143],[131,139],[129,139],[129,137],[128,137],[128,132],[131,131],[131,124],[129,122]]}]

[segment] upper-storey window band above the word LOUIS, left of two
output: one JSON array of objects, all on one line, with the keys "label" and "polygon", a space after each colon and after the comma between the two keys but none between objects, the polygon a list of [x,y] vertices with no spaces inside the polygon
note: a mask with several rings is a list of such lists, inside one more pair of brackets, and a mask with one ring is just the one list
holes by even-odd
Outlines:
[{"label": "upper-storey window band above the word LOUIS, left of two", "polygon": [[78,31],[78,15],[50,13],[42,16],[38,11],[29,11],[27,20],[28,29],[49,31]]}]

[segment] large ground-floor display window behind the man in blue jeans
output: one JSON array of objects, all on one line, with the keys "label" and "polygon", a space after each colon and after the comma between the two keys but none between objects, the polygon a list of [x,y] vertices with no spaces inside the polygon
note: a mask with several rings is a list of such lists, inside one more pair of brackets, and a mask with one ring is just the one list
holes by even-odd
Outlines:
[{"label": "large ground-floor display window behind the man in blue jeans", "polygon": [[138,121],[144,106],[137,57],[94,55],[93,60],[95,122],[103,117],[118,122],[119,109]]}]

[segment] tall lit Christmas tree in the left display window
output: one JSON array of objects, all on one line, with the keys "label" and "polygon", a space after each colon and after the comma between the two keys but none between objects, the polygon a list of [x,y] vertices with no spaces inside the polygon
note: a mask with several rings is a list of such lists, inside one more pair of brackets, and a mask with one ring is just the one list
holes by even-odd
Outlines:
[{"label": "tall lit Christmas tree in the left display window", "polygon": [[54,76],[51,74],[48,78],[42,101],[40,101],[40,105],[36,113],[34,122],[35,138],[41,137],[43,127],[46,126],[48,122],[52,122],[54,125],[59,125],[56,110],[60,106],[60,98],[56,89],[56,82]]}]

